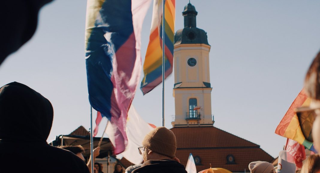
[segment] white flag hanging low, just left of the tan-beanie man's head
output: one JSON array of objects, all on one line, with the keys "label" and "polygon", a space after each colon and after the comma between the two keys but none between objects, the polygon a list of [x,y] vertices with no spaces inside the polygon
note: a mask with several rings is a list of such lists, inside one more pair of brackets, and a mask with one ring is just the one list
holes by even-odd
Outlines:
[{"label": "white flag hanging low, just left of the tan-beanie man's head", "polygon": [[[126,124],[126,134],[128,137],[128,145],[125,148],[124,152],[121,155],[124,156],[129,162],[133,164],[140,164],[143,161],[142,155],[139,154],[138,147],[142,147],[142,141],[144,137],[153,130],[154,127],[150,126],[145,122],[138,112],[131,105]],[[106,134],[109,136],[109,139],[112,144],[114,144],[114,139],[110,138],[112,135],[109,135],[109,132],[112,132],[112,126],[108,122]],[[112,133],[111,133],[112,134]]]}]

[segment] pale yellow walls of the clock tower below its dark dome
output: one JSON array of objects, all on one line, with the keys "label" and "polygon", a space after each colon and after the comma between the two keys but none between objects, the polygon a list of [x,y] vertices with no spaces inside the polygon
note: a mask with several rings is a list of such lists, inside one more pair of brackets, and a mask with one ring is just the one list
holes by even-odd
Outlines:
[{"label": "pale yellow walls of the clock tower below its dark dome", "polygon": [[[205,44],[180,44],[174,47],[174,76],[176,86],[175,121],[173,126],[212,126],[211,90],[203,82],[210,83],[209,73],[210,46]],[[188,65],[188,59],[196,59],[195,66]],[[201,106],[200,120],[186,120],[189,111],[189,99],[196,98]]]}]

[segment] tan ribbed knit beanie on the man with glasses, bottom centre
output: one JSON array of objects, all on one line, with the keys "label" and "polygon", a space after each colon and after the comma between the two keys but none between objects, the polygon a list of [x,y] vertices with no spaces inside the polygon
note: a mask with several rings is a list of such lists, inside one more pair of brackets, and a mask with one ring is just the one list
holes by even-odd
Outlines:
[{"label": "tan ribbed knit beanie on the man with glasses, bottom centre", "polygon": [[176,136],[165,127],[157,127],[144,137],[142,146],[173,158],[177,149]]}]

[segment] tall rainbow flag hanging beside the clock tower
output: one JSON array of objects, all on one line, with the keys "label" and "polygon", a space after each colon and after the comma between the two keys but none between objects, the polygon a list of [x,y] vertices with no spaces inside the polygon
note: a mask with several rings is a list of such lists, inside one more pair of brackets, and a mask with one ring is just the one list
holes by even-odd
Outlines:
[{"label": "tall rainbow flag hanging beside the clock tower", "polygon": [[[162,14],[163,0],[154,0],[149,44],[143,64],[144,77],[140,89],[147,94],[162,82]],[[175,0],[166,0],[164,4],[164,44],[165,74],[168,77],[173,67]]]}]

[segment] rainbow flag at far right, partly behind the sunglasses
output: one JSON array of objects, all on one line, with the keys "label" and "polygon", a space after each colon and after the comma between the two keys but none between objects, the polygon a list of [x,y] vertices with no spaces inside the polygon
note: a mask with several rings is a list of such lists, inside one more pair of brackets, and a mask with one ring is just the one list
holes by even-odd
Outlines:
[{"label": "rainbow flag at far right, partly behind the sunglasses", "polygon": [[[304,90],[301,90],[299,95],[293,101],[289,110],[284,115],[280,124],[277,126],[275,133],[297,141],[299,144],[305,146],[309,150],[316,152],[315,148],[313,147],[313,142],[308,141],[308,139],[311,137],[310,132],[312,122],[308,121],[308,116],[298,117],[294,112],[295,108],[309,106],[310,102],[311,99],[308,98]],[[307,136],[308,139],[306,139],[305,136]]]}]

